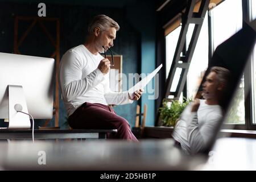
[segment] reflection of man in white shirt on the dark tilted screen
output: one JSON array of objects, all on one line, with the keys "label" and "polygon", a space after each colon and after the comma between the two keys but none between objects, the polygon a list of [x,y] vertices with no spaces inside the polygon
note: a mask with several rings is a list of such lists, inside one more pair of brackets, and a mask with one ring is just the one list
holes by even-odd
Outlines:
[{"label": "reflection of man in white shirt on the dark tilted screen", "polygon": [[189,104],[175,126],[172,137],[186,154],[204,152],[214,139],[222,120],[220,101],[230,79],[228,69],[213,67],[203,84],[202,96]]}]

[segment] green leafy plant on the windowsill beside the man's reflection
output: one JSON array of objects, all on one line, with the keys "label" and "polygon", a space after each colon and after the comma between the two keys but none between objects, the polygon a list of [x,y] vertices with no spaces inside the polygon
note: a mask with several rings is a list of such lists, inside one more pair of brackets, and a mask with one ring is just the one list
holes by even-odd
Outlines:
[{"label": "green leafy plant on the windowsill beside the man's reflection", "polygon": [[160,119],[162,120],[163,126],[175,126],[180,114],[183,112],[185,107],[192,100],[184,99],[183,103],[180,103],[179,100],[163,100],[163,107],[159,108]]}]

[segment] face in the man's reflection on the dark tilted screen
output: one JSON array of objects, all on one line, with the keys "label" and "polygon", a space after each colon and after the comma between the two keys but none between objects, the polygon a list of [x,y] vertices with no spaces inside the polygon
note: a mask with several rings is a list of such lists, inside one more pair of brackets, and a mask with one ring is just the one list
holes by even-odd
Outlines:
[{"label": "face in the man's reflection on the dark tilted screen", "polygon": [[217,74],[215,72],[210,72],[206,77],[205,82],[203,84],[203,94],[202,96],[205,99],[217,99],[219,82],[217,80]]}]

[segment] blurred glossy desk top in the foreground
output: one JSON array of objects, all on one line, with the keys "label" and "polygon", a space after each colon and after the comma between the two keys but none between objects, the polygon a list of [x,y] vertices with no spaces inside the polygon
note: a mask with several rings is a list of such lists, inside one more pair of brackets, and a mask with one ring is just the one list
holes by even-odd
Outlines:
[{"label": "blurred glossy desk top in the foreground", "polygon": [[[256,140],[218,139],[210,157],[183,155],[172,139],[0,142],[0,168],[49,170],[256,170]],[[39,165],[39,152],[46,165]]]}]

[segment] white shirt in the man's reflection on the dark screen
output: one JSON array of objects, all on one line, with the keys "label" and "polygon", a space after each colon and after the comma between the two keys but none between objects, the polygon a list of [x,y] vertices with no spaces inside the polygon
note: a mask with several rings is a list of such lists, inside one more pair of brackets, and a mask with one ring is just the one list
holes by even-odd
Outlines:
[{"label": "white shirt in the man's reflection on the dark screen", "polygon": [[184,109],[172,133],[185,154],[196,154],[207,149],[222,119],[221,107],[205,104],[205,100],[200,100],[197,112],[191,112],[191,109],[191,104]]}]

